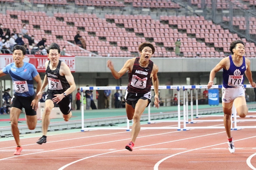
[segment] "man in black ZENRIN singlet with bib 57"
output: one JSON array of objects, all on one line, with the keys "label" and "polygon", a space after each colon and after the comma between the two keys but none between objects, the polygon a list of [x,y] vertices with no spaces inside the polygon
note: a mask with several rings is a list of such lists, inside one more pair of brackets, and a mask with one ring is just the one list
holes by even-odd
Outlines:
[{"label": "man in black ZENRIN singlet with bib 57", "polygon": [[36,142],[46,143],[46,134],[50,123],[50,113],[53,107],[58,104],[63,113],[63,119],[69,121],[72,116],[70,94],[75,90],[74,77],[69,67],[59,60],[60,48],[56,43],[52,43],[47,50],[48,61],[45,62],[45,77],[43,85],[37,96],[41,99],[44,88],[48,85],[45,96],[45,109],[42,115],[43,136]]}]

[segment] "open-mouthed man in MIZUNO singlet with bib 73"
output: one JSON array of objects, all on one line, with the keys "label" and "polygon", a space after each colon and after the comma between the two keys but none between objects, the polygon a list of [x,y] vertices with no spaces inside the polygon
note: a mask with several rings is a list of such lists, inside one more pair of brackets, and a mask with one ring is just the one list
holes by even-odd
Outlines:
[{"label": "open-mouthed man in MIZUNO singlet with bib 73", "polygon": [[140,117],[145,108],[151,102],[151,84],[154,85],[154,104],[159,108],[158,97],[158,66],[150,58],[155,52],[155,47],[151,43],[144,42],[139,45],[140,57],[129,59],[119,72],[114,69],[112,61],[108,60],[107,66],[112,75],[119,79],[128,71],[129,84],[125,92],[126,114],[129,120],[134,121],[132,126],[131,141],[125,146],[129,151],[133,150],[134,142],[140,130]]}]

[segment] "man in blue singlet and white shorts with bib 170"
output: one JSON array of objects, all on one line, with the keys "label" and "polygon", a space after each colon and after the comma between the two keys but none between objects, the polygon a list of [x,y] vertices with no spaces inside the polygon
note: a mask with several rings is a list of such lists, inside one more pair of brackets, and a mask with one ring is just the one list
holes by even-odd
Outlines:
[{"label": "man in blue singlet and white shorts with bib 170", "polygon": [[235,105],[236,111],[241,118],[248,113],[245,101],[244,74],[249,84],[255,87],[252,81],[250,60],[245,58],[245,43],[241,40],[233,41],[229,48],[232,55],[222,59],[210,72],[208,88],[213,85],[216,73],[223,68],[223,88],[222,106],[224,112],[224,126],[228,139],[228,149],[231,153],[235,152],[234,141],[231,136],[231,115],[232,106]]}]

